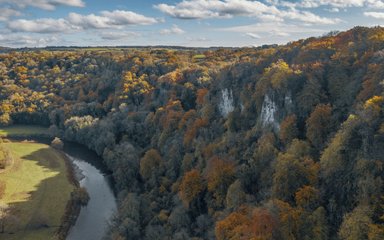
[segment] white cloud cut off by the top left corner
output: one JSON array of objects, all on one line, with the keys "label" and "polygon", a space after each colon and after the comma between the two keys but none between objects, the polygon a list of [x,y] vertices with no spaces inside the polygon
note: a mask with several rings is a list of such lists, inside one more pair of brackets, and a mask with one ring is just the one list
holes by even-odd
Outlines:
[{"label": "white cloud cut off by the top left corner", "polygon": [[0,3],[26,8],[37,7],[44,10],[55,10],[57,6],[85,7],[82,0],[0,0]]}]

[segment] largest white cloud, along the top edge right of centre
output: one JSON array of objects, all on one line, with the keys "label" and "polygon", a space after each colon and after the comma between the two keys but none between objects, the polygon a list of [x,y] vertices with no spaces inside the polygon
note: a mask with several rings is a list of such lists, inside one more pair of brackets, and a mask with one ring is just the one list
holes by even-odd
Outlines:
[{"label": "largest white cloud, along the top edge right of centre", "polygon": [[[373,1],[373,0],[372,0]],[[291,3],[286,9],[279,9],[279,4],[267,5],[251,0],[183,0],[175,5],[158,4],[155,8],[179,19],[231,18],[235,16],[256,17],[264,21],[281,22],[284,19],[310,24],[336,24],[339,19],[320,17],[308,11],[299,11]],[[285,2],[286,5],[288,4]]]}]

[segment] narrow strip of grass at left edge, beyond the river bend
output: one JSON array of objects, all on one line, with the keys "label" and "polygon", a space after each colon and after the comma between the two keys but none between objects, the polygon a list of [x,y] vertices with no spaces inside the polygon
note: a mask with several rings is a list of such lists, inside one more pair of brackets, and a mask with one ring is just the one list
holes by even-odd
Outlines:
[{"label": "narrow strip of grass at left edge, beyond the river bend", "polygon": [[24,137],[48,135],[48,128],[40,126],[12,125],[0,129],[3,137]]}]

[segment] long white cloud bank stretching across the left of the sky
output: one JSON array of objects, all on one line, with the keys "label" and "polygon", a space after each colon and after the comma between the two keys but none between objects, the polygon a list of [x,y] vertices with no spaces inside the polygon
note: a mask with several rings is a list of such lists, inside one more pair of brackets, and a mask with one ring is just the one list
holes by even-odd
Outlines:
[{"label": "long white cloud bank stretching across the left of the sky", "polygon": [[127,25],[148,25],[158,21],[130,11],[103,11],[101,15],[69,13],[67,18],[18,19],[8,22],[13,32],[60,33],[88,29],[113,29]]}]

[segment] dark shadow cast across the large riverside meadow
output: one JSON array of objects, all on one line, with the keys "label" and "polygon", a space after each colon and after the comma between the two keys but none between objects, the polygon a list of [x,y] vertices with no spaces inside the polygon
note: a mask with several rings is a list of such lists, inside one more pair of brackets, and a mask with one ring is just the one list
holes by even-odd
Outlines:
[{"label": "dark shadow cast across the large riverside meadow", "polygon": [[36,162],[43,177],[37,176],[42,179],[26,201],[9,204],[0,220],[0,239],[51,239],[61,225],[74,189],[73,182],[68,182],[72,170],[64,154],[52,148],[38,149],[21,159]]}]

